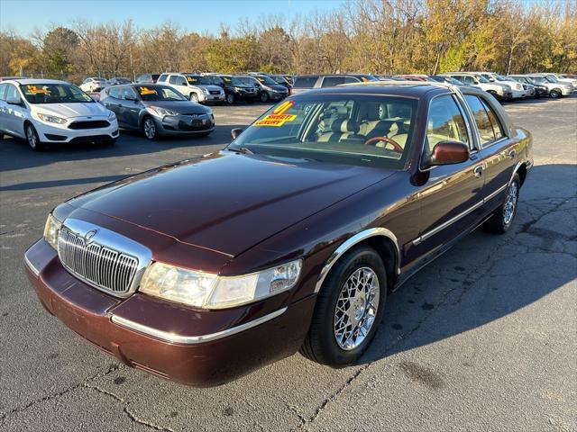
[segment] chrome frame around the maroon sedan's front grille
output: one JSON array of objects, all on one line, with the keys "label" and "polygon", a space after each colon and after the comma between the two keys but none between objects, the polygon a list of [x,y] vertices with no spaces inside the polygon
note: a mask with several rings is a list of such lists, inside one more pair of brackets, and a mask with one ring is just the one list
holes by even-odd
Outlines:
[{"label": "chrome frame around the maroon sedan's front grille", "polygon": [[140,243],[137,243],[136,241],[130,238],[124,237],[122,234],[118,234],[117,232],[114,232],[110,229],[102,228],[98,225],[87,222],[86,220],[69,218],[67,220],[64,220],[64,222],[62,222],[62,229],[68,230],[69,232],[82,238],[86,236],[88,231],[96,230],[96,235],[92,238],[92,240],[95,243],[97,243],[102,247],[114,249],[114,251],[118,253],[135,257],[138,260],[136,273],[133,276],[133,282],[130,285],[128,291],[126,291],[125,293],[115,293],[112,290],[94,284],[93,282],[87,280],[86,277],[84,277],[83,275],[79,275],[77,272],[66,266],[65,263],[62,261],[62,259],[60,259],[60,253],[59,253],[60,264],[70,273],[70,275],[73,275],[74,277],[78,278],[85,284],[88,284],[96,288],[97,290],[102,291],[103,293],[114,295],[114,297],[126,298],[132,295],[137,290],[138,286],[141,283],[142,275],[144,275],[146,268],[151,265],[152,262],[151,249],[143,246]]}]

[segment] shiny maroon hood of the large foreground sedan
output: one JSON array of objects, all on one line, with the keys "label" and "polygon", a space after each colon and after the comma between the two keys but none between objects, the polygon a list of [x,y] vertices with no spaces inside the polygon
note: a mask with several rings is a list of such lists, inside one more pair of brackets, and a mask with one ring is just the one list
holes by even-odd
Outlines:
[{"label": "shiny maroon hood of the large foreground sedan", "polygon": [[69,204],[235,257],[393,172],[224,150],[105,185]]}]

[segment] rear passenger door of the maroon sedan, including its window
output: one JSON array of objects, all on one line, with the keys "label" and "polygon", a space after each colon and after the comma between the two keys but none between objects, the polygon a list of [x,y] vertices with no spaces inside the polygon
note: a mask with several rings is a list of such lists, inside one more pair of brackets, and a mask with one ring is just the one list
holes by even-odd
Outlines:
[{"label": "rear passenger door of the maroon sedan, including its window", "polygon": [[483,177],[487,208],[492,210],[502,201],[503,193],[513,175],[517,161],[517,146],[507,136],[503,119],[482,95],[465,94],[464,99],[472,111],[474,126],[479,133],[480,156],[484,160]]}]

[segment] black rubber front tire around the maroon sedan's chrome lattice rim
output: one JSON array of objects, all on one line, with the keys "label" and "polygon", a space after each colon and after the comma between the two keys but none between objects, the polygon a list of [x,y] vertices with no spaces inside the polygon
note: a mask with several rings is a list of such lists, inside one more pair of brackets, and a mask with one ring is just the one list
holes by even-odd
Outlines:
[{"label": "black rubber front tire around the maroon sedan's chrome lattice rim", "polygon": [[[375,318],[364,340],[352,349],[339,346],[335,336],[334,319],[336,304],[344,284],[349,277],[362,267],[369,267],[379,282],[379,301]],[[355,362],[371,344],[379,327],[382,311],[387,298],[387,274],[379,254],[371,247],[355,247],[347,252],[331,269],[318,293],[315,312],[307,338],[300,347],[300,353],[322,365],[334,367]],[[350,304],[350,303],[349,303]]]}]

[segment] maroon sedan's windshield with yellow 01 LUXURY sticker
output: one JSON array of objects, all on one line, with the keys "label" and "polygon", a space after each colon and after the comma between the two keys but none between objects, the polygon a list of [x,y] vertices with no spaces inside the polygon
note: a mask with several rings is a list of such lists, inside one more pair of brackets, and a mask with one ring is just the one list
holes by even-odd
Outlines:
[{"label": "maroon sedan's windshield with yellow 01 LUXURY sticker", "polygon": [[376,95],[310,95],[265,112],[229,146],[256,154],[400,169],[417,100]]}]

